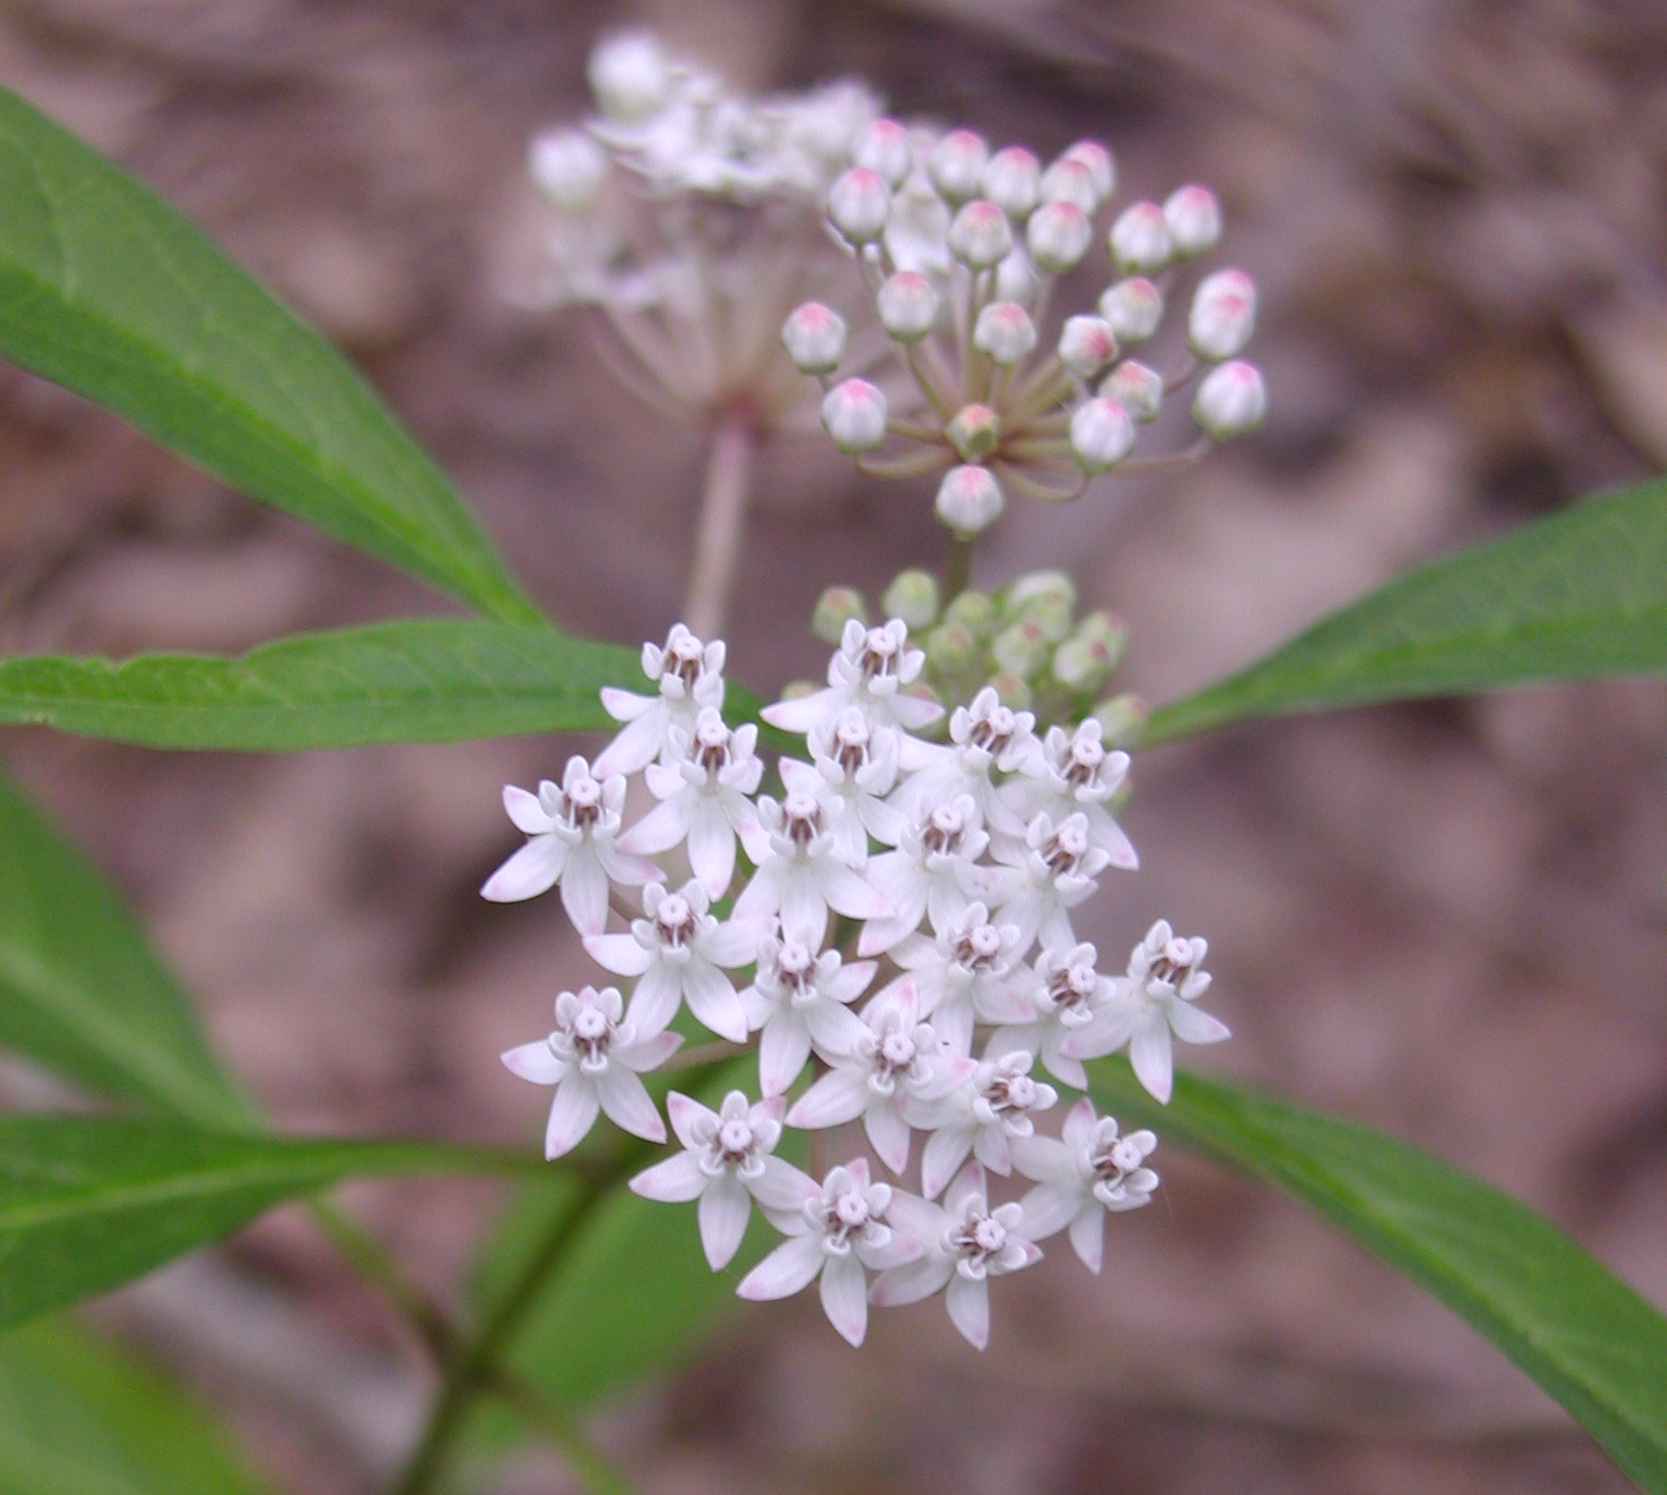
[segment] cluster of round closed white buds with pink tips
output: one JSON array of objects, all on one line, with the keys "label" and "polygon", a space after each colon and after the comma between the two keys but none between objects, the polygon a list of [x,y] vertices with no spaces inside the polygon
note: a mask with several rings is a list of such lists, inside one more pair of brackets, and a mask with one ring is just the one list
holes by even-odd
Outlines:
[{"label": "cluster of round closed white buds with pink tips", "polygon": [[[822,380],[822,423],[835,445],[864,455],[869,472],[942,472],[939,518],[972,535],[1002,512],[1007,492],[1072,498],[1094,475],[1190,462],[1210,440],[1259,425],[1262,375],[1239,358],[1255,325],[1255,283],[1242,270],[1197,280],[1185,348],[1169,372],[1142,347],[1159,338],[1187,270],[1220,240],[1214,193],[1187,185],[1164,203],[1130,203],[1107,230],[1114,190],[1112,153],[1095,140],[1044,165],[1019,145],[992,152],[972,130],[872,120],[828,188],[827,218],[895,352],[892,393],[864,338],[854,340],[862,357],[852,377],[835,382],[847,327],[834,308],[805,302],[782,327],[788,357]],[[1100,233],[1112,282],[1092,312],[1064,317],[1044,337],[1059,277]],[[1129,357],[1132,347],[1152,362]],[[1130,460],[1139,428],[1200,375],[1200,440],[1169,458]],[[889,435],[910,450],[865,455]]]}]

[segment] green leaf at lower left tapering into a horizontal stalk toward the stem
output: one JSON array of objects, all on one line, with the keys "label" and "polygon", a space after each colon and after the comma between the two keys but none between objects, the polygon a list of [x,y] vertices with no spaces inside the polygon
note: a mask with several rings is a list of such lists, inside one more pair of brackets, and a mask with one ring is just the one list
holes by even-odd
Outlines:
[{"label": "green leaf at lower left tapering into a horizontal stalk toward the stem", "polygon": [[355,1175],[522,1172],[532,1153],[202,1132],[135,1117],[0,1117],[0,1328],[142,1277]]}]

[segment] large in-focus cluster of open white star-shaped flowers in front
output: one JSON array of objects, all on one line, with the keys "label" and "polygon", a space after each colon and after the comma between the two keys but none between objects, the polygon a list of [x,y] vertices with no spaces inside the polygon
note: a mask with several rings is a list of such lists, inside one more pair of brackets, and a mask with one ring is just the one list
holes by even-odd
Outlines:
[{"label": "large in-focus cluster of open white star-shaped flowers in front", "polygon": [[[1105,748],[1094,718],[1039,738],[994,690],[944,722],[907,627],[852,622],[827,687],[765,708],[805,755],[780,758],[778,793],[760,793],[757,728],[722,715],[723,645],[678,625],[663,648],[643,645],[642,665],[653,693],[603,692],[623,725],[595,765],[575,757],[560,785],[503,792],[527,845],[482,890],[518,900],[560,887],[590,957],[633,982],[628,1000],[613,985],[562,992],[550,1035],[503,1055],[555,1087],[545,1153],[573,1148],[598,1112],[665,1142],[642,1073],[682,1045],[670,1028],[682,1008],[720,1038],[757,1035],[760,1098],[735,1090],[713,1112],[672,1092],[682,1152],[632,1187],[698,1198],[713,1270],[757,1202],[787,1240],[740,1282],[745,1298],[820,1278],[830,1322],[860,1343],[870,1303],[942,1290],[982,1348],[990,1277],[1029,1267],[1062,1230],[1097,1272],[1105,1213],[1157,1187],[1154,1135],[1120,1135],[1087,1098],[1057,1138],[1042,1135],[1059,1090],[1037,1070],[1084,1090],[1082,1062],[1127,1045],[1167,1100],[1172,1035],[1227,1037],[1194,1005],[1209,985],[1204,940],[1159,922],[1127,973],[1105,977],[1072,930],[1100,877],[1135,867],[1110,808],[1129,757]],[[635,773],[655,805],[625,827]],[[642,917],[610,932],[610,903],[635,888]],[[732,893],[730,913],[713,913]],[[899,1177],[925,1133],[919,1193],[877,1182],[862,1157],[820,1183],[775,1157],[783,1127],[859,1120]],[[1034,1187],[994,1203],[987,1175],[1014,1172]]]}]

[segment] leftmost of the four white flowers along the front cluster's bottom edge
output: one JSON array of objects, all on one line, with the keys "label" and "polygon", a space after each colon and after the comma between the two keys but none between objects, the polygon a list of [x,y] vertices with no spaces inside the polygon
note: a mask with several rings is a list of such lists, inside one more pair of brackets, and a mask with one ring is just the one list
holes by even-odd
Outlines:
[{"label": "leftmost of the four white flowers along the front cluster's bottom edge", "polygon": [[665,1098],[672,1132],[683,1150],[645,1168],[630,1187],[643,1198],[680,1205],[700,1200],[700,1245],[713,1272],[722,1272],[740,1248],[752,1200],[765,1208],[792,1210],[815,1187],[783,1158],[772,1157],[782,1140],[782,1100],[748,1105],[730,1090],[718,1110],[678,1095]]}]

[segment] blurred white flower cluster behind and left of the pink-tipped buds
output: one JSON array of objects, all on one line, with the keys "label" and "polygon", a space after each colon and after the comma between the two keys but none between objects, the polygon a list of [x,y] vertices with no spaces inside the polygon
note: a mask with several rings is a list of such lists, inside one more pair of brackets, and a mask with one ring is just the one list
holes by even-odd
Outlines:
[{"label": "blurred white flower cluster behind and left of the pink-tipped buds", "polygon": [[650,408],[775,423],[802,403],[775,330],[837,263],[822,198],[880,102],[747,98],[647,32],[602,40],[588,75],[597,113],[528,147],[552,208],[530,300],[600,313],[600,357]]}]

